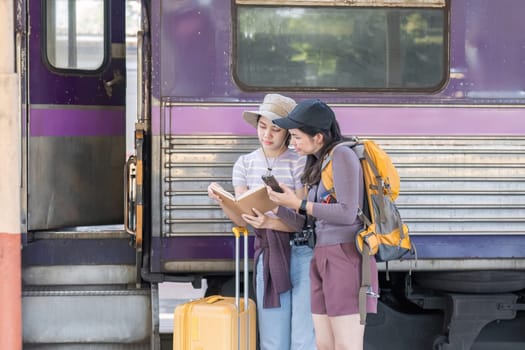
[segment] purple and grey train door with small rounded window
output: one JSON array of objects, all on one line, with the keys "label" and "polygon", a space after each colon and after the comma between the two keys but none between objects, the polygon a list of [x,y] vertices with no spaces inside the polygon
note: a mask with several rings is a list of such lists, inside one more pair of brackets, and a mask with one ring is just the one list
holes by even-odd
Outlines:
[{"label": "purple and grey train door with small rounded window", "polygon": [[27,4],[27,231],[120,224],[125,2]]}]

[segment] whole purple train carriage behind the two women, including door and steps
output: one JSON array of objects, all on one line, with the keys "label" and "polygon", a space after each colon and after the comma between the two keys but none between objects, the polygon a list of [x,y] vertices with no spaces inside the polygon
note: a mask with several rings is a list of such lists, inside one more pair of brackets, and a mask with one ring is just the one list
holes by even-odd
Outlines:
[{"label": "whole purple train carriage behind the two women, including door and steps", "polygon": [[[365,348],[525,344],[514,330],[525,319],[521,0],[142,1],[135,56],[125,4],[100,1],[94,68],[81,51],[57,64],[58,2],[17,3],[24,344],[159,349],[159,284],[205,278],[207,293],[232,292],[232,224],[206,188],[232,189],[233,162],[258,144],[242,111],[271,91],[326,101],[344,134],[375,139],[399,170],[417,261],[390,263],[388,276],[381,266]],[[136,85],[124,79],[130,57]],[[48,336],[36,314],[53,305],[58,326],[70,323],[64,295],[87,314],[109,308],[119,326]]]}]

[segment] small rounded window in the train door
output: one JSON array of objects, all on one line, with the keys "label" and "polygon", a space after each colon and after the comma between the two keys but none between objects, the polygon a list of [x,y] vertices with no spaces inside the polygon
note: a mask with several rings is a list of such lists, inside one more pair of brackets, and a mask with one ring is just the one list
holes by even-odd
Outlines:
[{"label": "small rounded window in the train door", "polygon": [[105,59],[104,0],[46,1],[46,58],[57,69],[95,71]]}]

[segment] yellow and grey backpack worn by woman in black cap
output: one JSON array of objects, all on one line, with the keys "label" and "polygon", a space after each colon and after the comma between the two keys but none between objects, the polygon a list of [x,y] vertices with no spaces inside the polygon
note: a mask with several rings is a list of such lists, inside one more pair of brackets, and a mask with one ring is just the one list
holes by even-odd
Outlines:
[{"label": "yellow and grey backpack worn by woman in black cap", "polygon": [[[359,293],[361,323],[366,320],[366,296],[373,295],[370,278],[369,255],[376,261],[398,260],[405,254],[415,254],[395,200],[399,195],[400,179],[388,154],[372,140],[342,142],[336,145],[323,162],[321,181],[330,195],[337,200],[334,188],[332,155],[336,147],[349,146],[356,153],[363,168],[365,184],[364,204],[358,215],[363,229],[356,235],[357,250],[362,254],[362,280]],[[388,265],[387,265],[388,274]],[[388,277],[388,276],[387,276]]]}]

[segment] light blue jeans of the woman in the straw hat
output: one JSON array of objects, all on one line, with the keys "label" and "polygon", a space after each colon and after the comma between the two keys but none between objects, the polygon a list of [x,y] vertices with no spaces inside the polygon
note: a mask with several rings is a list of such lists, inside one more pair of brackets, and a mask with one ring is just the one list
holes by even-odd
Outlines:
[{"label": "light blue jeans of the woman in the straw hat", "polygon": [[[264,254],[264,253],[263,253]],[[281,307],[263,308],[263,257],[257,263],[257,324],[261,350],[315,350],[310,310],[310,261],[313,250],[292,246],[292,289],[280,294]]]}]

